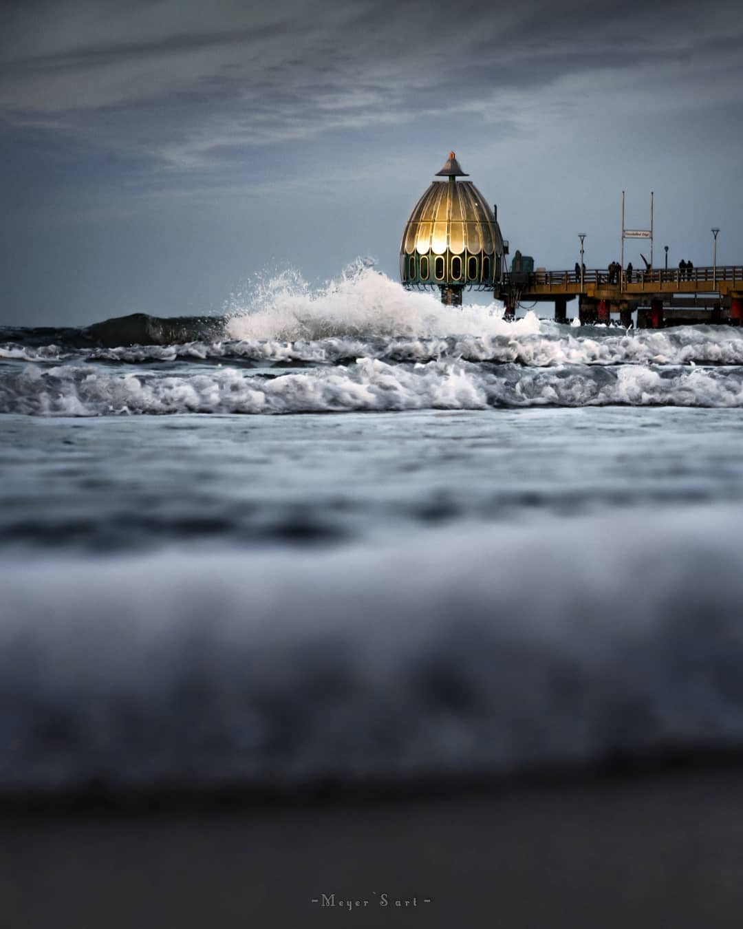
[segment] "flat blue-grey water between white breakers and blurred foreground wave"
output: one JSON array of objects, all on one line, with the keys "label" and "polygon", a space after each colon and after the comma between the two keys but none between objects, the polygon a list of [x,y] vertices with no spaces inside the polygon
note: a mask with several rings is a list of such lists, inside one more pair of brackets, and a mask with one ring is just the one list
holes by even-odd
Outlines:
[{"label": "flat blue-grey water between white breakers and blurred foreground wave", "polygon": [[736,410],[6,415],[0,546],[394,541],[461,520],[738,502]]}]

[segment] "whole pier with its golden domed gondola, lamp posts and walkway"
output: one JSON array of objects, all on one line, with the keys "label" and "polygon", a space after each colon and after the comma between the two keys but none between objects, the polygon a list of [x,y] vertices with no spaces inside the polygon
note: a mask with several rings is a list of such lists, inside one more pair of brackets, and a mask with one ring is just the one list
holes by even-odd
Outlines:
[{"label": "whole pier with its golden domed gondola, lamp posts and walkway", "polygon": [[[653,198],[647,229],[627,229],[624,224],[624,191],[621,195],[621,261],[612,268],[586,270],[583,265],[585,232],[579,232],[580,264],[562,271],[534,268],[534,259],[516,252],[507,271],[508,242],[482,193],[463,171],[450,151],[434,180],[412,209],[400,242],[400,281],[405,287],[437,289],[441,302],[461,307],[463,291],[492,291],[505,305],[506,319],[513,320],[518,307],[554,303],[554,320],[568,322],[567,304],[578,301],[580,323],[619,322],[641,329],[713,323],[739,326],[743,321],[743,265],[717,264],[717,227],[712,264],[706,268],[653,267]],[[624,242],[648,242],[650,260],[645,268],[625,267]],[[668,247],[665,247],[666,264]],[[582,268],[582,270],[581,270]],[[615,320],[612,320],[612,316]]]}]

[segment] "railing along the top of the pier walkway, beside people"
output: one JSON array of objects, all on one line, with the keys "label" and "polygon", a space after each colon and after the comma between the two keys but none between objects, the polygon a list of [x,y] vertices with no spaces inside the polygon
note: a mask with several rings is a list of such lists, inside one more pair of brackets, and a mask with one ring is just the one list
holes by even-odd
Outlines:
[{"label": "railing along the top of the pier walkway, beside people", "polygon": [[[535,270],[530,272],[512,272],[505,276],[505,284],[517,284],[522,289],[528,290],[530,287],[549,287],[555,290],[563,290],[566,285],[572,285],[571,290],[577,286],[580,289],[580,274],[576,275],[572,271],[547,271]],[[612,275],[608,269],[592,268],[583,272],[583,283],[606,286],[627,286],[631,285],[642,287],[665,284],[666,287],[679,286],[685,291],[689,290],[689,284],[699,284],[698,290],[710,291],[710,284],[716,285],[721,282],[735,285],[740,284],[743,287],[743,266],[741,265],[718,265],[713,268],[633,268],[632,273],[628,274],[625,268],[619,275]]]}]

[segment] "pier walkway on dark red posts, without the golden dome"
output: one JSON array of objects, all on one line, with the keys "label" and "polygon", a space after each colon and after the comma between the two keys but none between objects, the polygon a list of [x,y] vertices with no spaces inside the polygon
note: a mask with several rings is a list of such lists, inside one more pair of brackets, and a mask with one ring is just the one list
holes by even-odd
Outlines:
[{"label": "pier walkway on dark red posts, without the golden dome", "polygon": [[641,329],[696,323],[739,326],[743,321],[743,266],[709,268],[622,269],[612,277],[607,269],[512,271],[495,284],[495,297],[502,300],[506,316],[516,307],[554,303],[554,321],[568,322],[567,304],[578,300],[582,324],[612,321],[630,325],[637,311]]}]

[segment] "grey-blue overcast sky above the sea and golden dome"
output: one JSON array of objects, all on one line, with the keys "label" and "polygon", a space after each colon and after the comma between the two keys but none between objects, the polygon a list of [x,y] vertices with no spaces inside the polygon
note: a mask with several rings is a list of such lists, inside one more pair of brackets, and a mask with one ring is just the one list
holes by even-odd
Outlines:
[{"label": "grey-blue overcast sky above the sea and golden dome", "polygon": [[[0,324],[222,312],[286,268],[398,278],[450,150],[537,266],[743,265],[732,2],[4,0]],[[646,243],[645,243],[646,244]],[[641,264],[645,245],[628,242]]]}]

